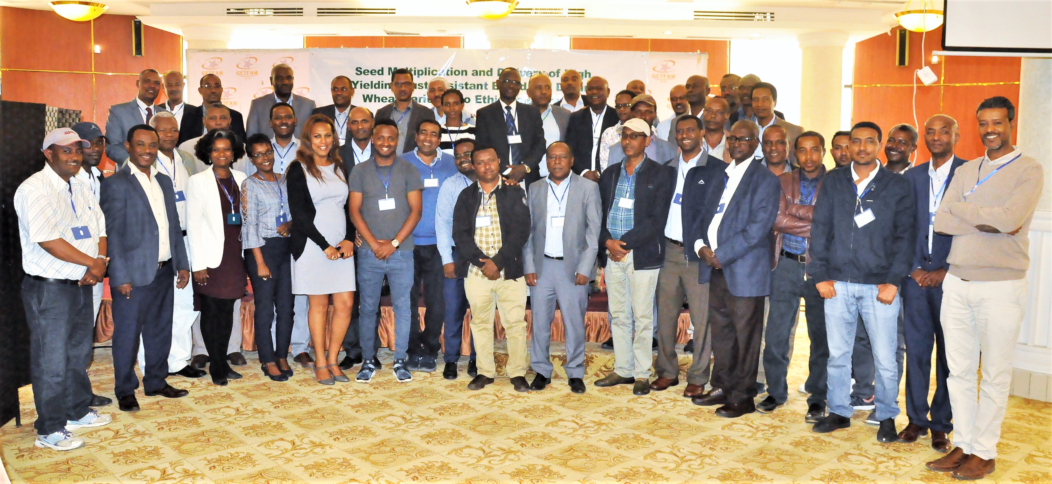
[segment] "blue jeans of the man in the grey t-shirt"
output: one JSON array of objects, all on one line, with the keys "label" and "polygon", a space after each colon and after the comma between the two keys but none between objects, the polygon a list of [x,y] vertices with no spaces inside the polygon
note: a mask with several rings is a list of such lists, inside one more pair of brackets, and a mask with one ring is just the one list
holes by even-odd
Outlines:
[{"label": "blue jeans of the man in the grey t-shirt", "polygon": [[380,311],[380,289],[387,276],[391,288],[391,308],[394,310],[394,359],[405,360],[409,348],[409,324],[412,308],[409,290],[412,288],[412,250],[394,250],[386,261],[377,259],[368,245],[358,248],[358,297],[362,300],[358,319],[362,360],[371,361],[377,356],[373,346],[377,328],[373,326]]}]

